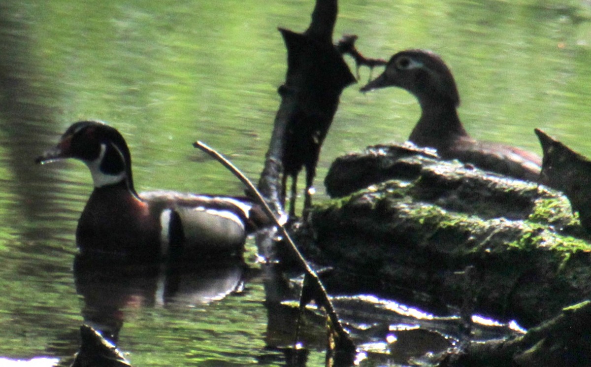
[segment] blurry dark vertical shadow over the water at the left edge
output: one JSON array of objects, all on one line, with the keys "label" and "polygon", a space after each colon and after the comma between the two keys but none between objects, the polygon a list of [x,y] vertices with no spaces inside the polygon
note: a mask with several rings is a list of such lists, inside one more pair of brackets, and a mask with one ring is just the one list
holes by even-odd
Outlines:
[{"label": "blurry dark vertical shadow over the water at the left edge", "polygon": [[[34,164],[35,155],[55,139],[52,125],[56,111],[47,101],[49,96],[58,97],[44,83],[35,61],[38,46],[30,37],[31,24],[33,20],[27,18],[20,2],[0,2],[0,129],[6,137],[2,159],[14,177],[4,187],[16,198],[8,206],[18,213],[12,217],[22,215],[28,222],[33,222],[38,213],[59,210],[48,196],[58,188],[57,178]],[[47,228],[22,227],[26,239],[47,237]]]}]

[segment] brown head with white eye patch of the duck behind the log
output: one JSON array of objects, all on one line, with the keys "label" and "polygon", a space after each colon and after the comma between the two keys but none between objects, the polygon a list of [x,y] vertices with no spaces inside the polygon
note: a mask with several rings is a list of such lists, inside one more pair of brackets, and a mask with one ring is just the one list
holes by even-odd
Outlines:
[{"label": "brown head with white eye patch of the duck behind the log", "polygon": [[412,93],[421,106],[433,103],[460,105],[456,82],[449,67],[431,51],[401,51],[386,64],[384,73],[361,88],[362,92],[388,86]]}]

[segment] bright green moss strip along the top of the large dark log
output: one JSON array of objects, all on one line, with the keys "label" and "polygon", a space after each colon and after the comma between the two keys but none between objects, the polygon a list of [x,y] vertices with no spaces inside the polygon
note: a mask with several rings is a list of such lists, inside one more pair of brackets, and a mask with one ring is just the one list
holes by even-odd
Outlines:
[{"label": "bright green moss strip along the top of the large dark log", "polygon": [[[579,251],[591,251],[591,245],[583,239],[554,231],[552,226],[556,228],[579,226],[577,217],[572,213],[569,200],[554,191],[540,190],[536,184],[526,184],[527,187],[522,189],[522,191],[527,191],[526,196],[539,196],[538,199],[535,199],[532,212],[526,220],[511,222],[514,224],[509,227],[504,226],[506,229],[513,228],[514,230],[506,230],[502,233],[496,231],[496,228],[499,227],[499,223],[505,221],[503,217],[483,219],[473,214],[485,211],[486,205],[489,205],[486,200],[474,202],[473,206],[483,206],[483,209],[479,210],[478,207],[473,207],[471,213],[446,210],[436,203],[423,202],[413,197],[417,182],[385,181],[347,197],[320,203],[314,207],[314,211],[326,213],[327,211],[340,210],[349,204],[359,205],[361,203],[360,207],[363,210],[374,210],[381,219],[384,219],[384,222],[382,220],[378,220],[379,223],[372,222],[378,226],[385,225],[382,227],[384,232],[388,232],[386,229],[389,226],[387,218],[393,214],[394,217],[407,220],[408,224],[414,223],[411,226],[417,230],[417,241],[430,241],[431,236],[446,236],[446,233],[452,233],[449,232],[450,230],[456,230],[459,238],[463,238],[465,233],[480,233],[480,235],[495,239],[493,242],[489,239],[476,239],[475,243],[483,243],[488,251],[503,251],[508,248],[525,252],[541,249],[551,250],[556,251],[556,259],[560,264],[566,264],[571,254]],[[512,186],[508,186],[506,190],[519,191]],[[359,215],[358,212],[353,214]],[[391,223],[394,227],[398,225],[395,222],[397,221]],[[503,246],[491,249],[490,243],[501,243]],[[479,252],[482,251],[482,248],[469,245],[469,248],[461,246],[458,250]]]}]

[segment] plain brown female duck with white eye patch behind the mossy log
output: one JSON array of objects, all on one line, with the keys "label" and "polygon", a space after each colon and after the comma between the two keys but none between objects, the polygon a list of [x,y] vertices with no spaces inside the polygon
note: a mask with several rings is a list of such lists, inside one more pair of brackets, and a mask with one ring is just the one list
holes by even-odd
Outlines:
[{"label": "plain brown female duck with white eye patch behind the mossy log", "polygon": [[421,118],[408,138],[433,147],[444,159],[457,159],[483,170],[522,180],[537,181],[541,158],[508,145],[477,141],[467,134],[457,116],[460,96],[447,65],[434,53],[407,50],[395,54],[384,73],[361,91],[397,86],[412,93],[421,105]]}]

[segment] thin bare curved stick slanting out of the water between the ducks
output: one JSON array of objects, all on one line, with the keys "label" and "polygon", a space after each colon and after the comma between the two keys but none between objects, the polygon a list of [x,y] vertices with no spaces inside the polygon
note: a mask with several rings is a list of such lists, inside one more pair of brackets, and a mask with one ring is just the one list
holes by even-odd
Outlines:
[{"label": "thin bare curved stick slanting out of the water between the ducks", "polygon": [[213,150],[212,148],[200,141],[194,142],[193,147],[203,152],[206,152],[208,155],[210,155],[210,157],[214,158],[224,167],[228,168],[228,170],[232,172],[232,174],[236,176],[255,195],[257,201],[259,202],[259,204],[261,204],[265,213],[269,216],[269,218],[273,220],[275,225],[277,225],[281,232],[281,235],[283,236],[285,241],[287,241],[287,243],[290,245],[291,251],[293,251],[293,253],[296,254],[295,257],[299,265],[301,266],[301,268],[303,268],[304,272],[306,272],[305,279],[307,282],[309,282],[312,288],[311,293],[309,295],[303,294],[301,297],[314,298],[316,302],[319,304],[319,306],[324,307],[324,310],[326,311],[326,314],[330,319],[330,323],[333,327],[335,327],[336,333],[341,338],[341,340],[339,340],[340,346],[342,346],[343,349],[346,349],[348,352],[353,353],[355,351],[355,344],[350,339],[349,333],[343,328],[343,324],[340,323],[335,308],[333,307],[333,304],[330,301],[328,294],[326,293],[324,285],[318,278],[318,275],[316,274],[316,272],[313,271],[312,268],[310,268],[310,265],[308,265],[306,259],[304,259],[304,256],[301,254],[300,250],[298,250],[298,248],[296,247],[296,244],[291,239],[289,233],[287,233],[287,230],[285,229],[283,222],[284,218],[281,218],[280,220],[277,218],[277,216],[275,216],[275,214],[271,210],[271,207],[269,207],[267,201],[265,201],[264,197],[262,197],[261,193],[259,193],[254,184],[252,184],[252,182],[246,176],[244,176],[244,174],[240,170],[238,170],[238,168],[236,168],[235,165],[233,165],[230,161],[223,157],[223,155],[219,154],[219,152]]}]

